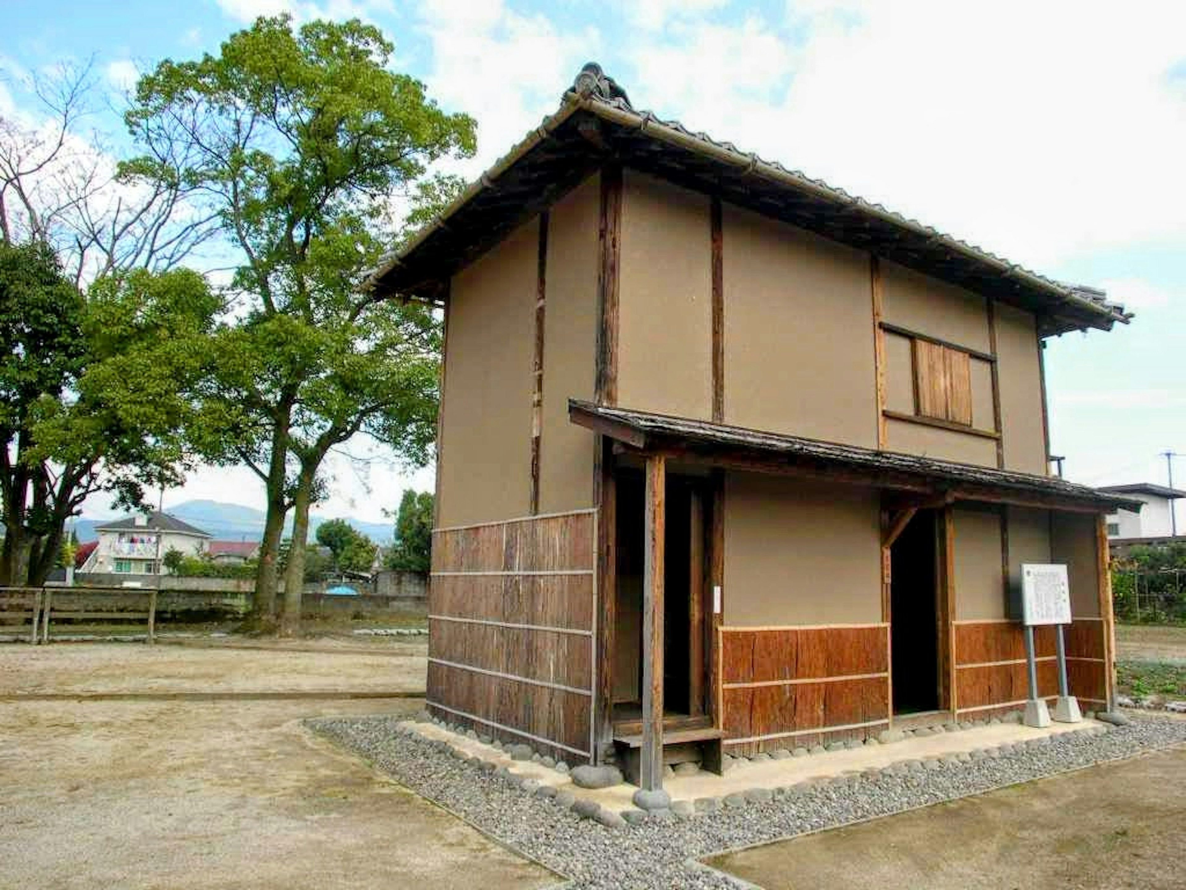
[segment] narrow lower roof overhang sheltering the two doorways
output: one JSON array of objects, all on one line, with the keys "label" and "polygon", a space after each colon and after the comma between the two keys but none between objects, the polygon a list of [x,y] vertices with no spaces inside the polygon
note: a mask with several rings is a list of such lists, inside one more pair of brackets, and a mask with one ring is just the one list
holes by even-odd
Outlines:
[{"label": "narrow lower roof overhang sheltering the two doorways", "polygon": [[568,417],[574,424],[613,439],[627,453],[661,453],[689,463],[871,485],[927,502],[976,501],[1095,514],[1140,510],[1142,503],[1051,476],[876,451],[575,399],[568,402]]}]

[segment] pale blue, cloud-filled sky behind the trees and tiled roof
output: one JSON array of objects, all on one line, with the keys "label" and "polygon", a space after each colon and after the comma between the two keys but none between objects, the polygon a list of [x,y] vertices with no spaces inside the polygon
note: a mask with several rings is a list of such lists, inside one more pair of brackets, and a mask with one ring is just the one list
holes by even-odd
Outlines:
[{"label": "pale blue, cloud-filled sky behind the trees and tiled roof", "polygon": [[[1052,449],[1090,484],[1163,483],[1158,452],[1186,452],[1186,5],[6,0],[0,115],[31,108],[23,72],[94,56],[117,91],[138,68],[213,51],[280,11],[378,25],[398,68],[477,117],[467,176],[554,110],[592,58],[636,106],[1103,286],[1137,318],[1050,344]],[[119,152],[114,115],[94,123]],[[1175,470],[1186,484],[1186,459]],[[377,517],[406,482],[382,459],[331,471],[330,515]],[[225,472],[199,471],[166,504],[259,500],[253,478],[234,482],[230,498]],[[431,472],[413,482],[429,488]]]}]

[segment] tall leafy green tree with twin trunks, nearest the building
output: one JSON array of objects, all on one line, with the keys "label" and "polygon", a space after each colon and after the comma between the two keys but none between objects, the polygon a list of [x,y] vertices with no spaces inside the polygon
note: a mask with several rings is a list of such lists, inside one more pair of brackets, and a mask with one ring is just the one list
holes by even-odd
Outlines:
[{"label": "tall leafy green tree with twin trunks, nearest the building", "polygon": [[[357,20],[261,18],[217,56],[160,63],[126,115],[144,146],[125,173],[160,183],[185,158],[238,252],[242,323],[219,338],[219,379],[203,400],[203,453],[263,481],[267,520],[257,618],[275,614],[278,554],[293,510],[286,571],[304,577],[319,470],[356,433],[427,459],[436,406],[438,319],[357,287],[400,236],[393,197],[413,212],[453,193],[428,165],[474,151],[473,121],[446,114],[417,81],[389,70],[393,46]],[[286,584],[285,625],[300,584]]]}]

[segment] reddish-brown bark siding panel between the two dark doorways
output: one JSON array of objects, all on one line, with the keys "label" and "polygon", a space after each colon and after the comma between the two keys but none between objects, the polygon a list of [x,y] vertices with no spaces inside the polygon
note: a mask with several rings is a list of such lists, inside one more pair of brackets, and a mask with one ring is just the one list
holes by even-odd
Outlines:
[{"label": "reddish-brown bark siding panel between the two dark doorways", "polygon": [[734,754],[865,736],[888,724],[888,624],[719,634],[721,726]]}]

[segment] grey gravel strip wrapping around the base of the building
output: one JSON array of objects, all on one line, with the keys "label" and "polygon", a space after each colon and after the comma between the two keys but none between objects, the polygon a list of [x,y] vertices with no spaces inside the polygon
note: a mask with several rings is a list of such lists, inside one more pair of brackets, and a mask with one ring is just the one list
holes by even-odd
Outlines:
[{"label": "grey gravel strip wrapping around the base of the building", "polygon": [[1186,721],[1137,717],[1108,732],[1069,732],[1006,745],[977,752],[969,762],[903,761],[874,775],[779,789],[767,802],[607,828],[525,793],[512,778],[458,759],[447,744],[400,724],[400,718],[308,721],[404,786],[570,878],[574,890],[737,890],[737,882],[693,860],[1186,743]]}]

